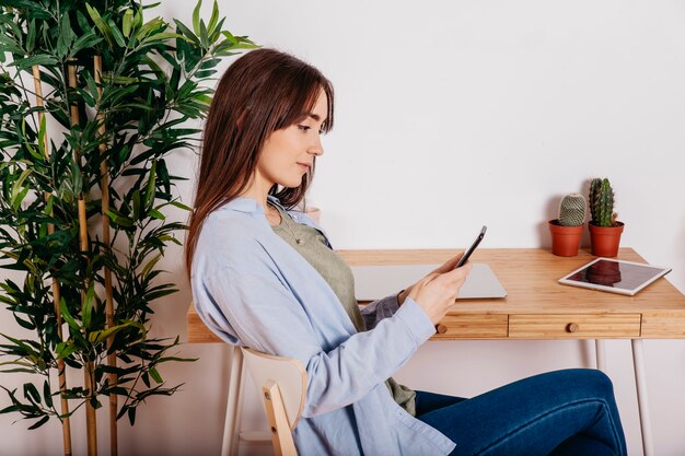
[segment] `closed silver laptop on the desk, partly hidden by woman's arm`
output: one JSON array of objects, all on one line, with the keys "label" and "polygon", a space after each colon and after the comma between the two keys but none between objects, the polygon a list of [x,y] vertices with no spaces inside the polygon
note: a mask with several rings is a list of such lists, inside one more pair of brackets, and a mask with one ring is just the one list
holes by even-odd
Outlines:
[{"label": "closed silver laptop on the desk, partly hidden by woman's arm", "polygon": [[[355,296],[374,301],[397,293],[440,265],[352,266]],[[507,291],[484,262],[474,262],[457,300],[506,297]]]}]

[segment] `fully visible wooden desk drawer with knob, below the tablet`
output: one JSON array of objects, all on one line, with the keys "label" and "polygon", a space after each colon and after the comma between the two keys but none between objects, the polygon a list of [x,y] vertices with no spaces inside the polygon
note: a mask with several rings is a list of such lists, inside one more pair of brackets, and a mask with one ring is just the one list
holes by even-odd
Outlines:
[{"label": "fully visible wooden desk drawer with knob, below the tablet", "polygon": [[511,339],[640,337],[640,314],[510,315]]}]

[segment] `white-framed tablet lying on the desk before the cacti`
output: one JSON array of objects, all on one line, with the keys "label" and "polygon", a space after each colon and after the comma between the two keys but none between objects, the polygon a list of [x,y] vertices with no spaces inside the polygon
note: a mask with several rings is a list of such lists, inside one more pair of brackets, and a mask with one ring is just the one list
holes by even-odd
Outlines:
[{"label": "white-framed tablet lying on the desk before the cacti", "polygon": [[620,259],[597,258],[562,277],[559,279],[559,283],[632,296],[669,272],[671,272],[671,268]]}]

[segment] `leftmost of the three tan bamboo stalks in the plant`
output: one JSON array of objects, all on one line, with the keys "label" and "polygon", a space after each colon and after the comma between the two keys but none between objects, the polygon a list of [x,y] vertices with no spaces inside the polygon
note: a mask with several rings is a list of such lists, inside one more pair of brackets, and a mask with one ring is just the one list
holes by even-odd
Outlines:
[{"label": "leftmost of the three tan bamboo stalks in the plant", "polygon": [[[44,107],[43,104],[43,87],[40,85],[40,69],[37,65],[33,66],[33,83],[36,91],[36,105],[39,107]],[[38,125],[43,125],[43,118],[45,113],[43,110],[38,112]],[[45,155],[49,156],[50,151],[48,149],[49,141],[47,137],[47,132],[43,137],[43,145],[45,149]],[[49,201],[53,196],[48,192],[45,194],[45,200]],[[50,212],[50,215],[53,213]],[[47,225],[48,234],[55,233],[55,225],[48,223]],[[57,337],[60,341],[63,341],[62,338],[62,314],[59,308],[59,303],[61,302],[61,293],[59,289],[59,281],[54,277],[53,278],[53,301],[55,303],[55,315],[57,317]],[[67,399],[67,371],[65,365],[65,360],[57,360],[57,377],[59,383],[59,397],[61,405],[61,423],[62,423],[62,442],[65,456],[71,456],[71,420],[69,419],[69,400]]]}]

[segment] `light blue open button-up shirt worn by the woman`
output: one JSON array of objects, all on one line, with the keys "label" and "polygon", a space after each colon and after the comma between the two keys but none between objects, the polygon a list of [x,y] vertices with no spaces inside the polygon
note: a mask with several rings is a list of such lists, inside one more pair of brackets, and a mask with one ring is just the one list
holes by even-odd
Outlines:
[{"label": "light blue open button-up shirt worn by the woman", "polygon": [[[289,213],[325,236],[302,212]],[[306,401],[293,433],[301,455],[434,456],[454,448],[384,384],[434,334],[426,313],[410,297],[398,306],[387,296],[362,309],[369,330],[357,332],[328,283],[274,233],[256,200],[235,198],[207,218],[190,282],[198,315],[221,339],[305,366]]]}]

